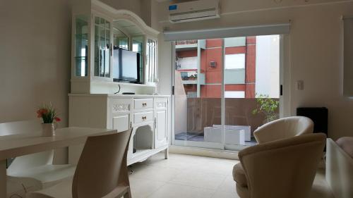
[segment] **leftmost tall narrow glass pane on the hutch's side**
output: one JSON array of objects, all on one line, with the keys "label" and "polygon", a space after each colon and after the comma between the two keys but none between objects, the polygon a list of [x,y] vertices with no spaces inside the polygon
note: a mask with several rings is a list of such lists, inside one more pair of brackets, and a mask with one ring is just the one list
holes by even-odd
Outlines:
[{"label": "leftmost tall narrow glass pane on the hutch's side", "polygon": [[88,18],[76,16],[75,32],[75,75],[87,76],[88,73]]}]

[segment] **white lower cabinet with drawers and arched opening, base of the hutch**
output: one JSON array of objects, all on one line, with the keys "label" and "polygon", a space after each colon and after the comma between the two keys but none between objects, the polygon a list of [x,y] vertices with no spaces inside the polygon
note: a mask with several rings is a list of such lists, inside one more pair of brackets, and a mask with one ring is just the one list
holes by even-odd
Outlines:
[{"label": "white lower cabinet with drawers and arched opening, base of the hutch", "polygon": [[[168,113],[169,96],[69,94],[69,126],[112,128],[118,132],[133,128],[128,165],[160,151],[167,158]],[[71,163],[77,163],[81,150],[82,146],[69,148]]]}]

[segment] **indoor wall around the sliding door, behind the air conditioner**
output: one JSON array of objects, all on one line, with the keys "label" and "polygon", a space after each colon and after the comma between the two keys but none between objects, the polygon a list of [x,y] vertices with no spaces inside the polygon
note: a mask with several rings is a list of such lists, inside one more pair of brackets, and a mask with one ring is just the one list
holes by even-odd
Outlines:
[{"label": "indoor wall around the sliding door, behind the air conditioner", "polygon": [[[324,4],[316,4],[324,2]],[[331,2],[331,3],[327,3]],[[352,136],[353,101],[342,97],[342,14],[353,13],[353,1],[240,1],[223,0],[220,19],[172,25],[167,21],[167,5],[158,7],[159,25],[163,30],[232,27],[287,23],[292,20],[290,34],[285,38],[285,92],[289,115],[299,106],[326,106],[329,109],[329,136]],[[153,9],[152,9],[153,10]],[[154,24],[154,23],[152,23]],[[171,44],[160,37],[161,92],[170,94]],[[304,80],[304,90],[294,89],[297,80]]]}]

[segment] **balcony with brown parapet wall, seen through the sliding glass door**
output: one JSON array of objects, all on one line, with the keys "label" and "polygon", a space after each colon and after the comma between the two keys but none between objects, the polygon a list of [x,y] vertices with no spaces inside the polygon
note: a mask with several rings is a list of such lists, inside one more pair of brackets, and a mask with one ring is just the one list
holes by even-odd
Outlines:
[{"label": "balcony with brown parapet wall, seen through the sliding glass door", "polygon": [[[201,142],[207,142],[205,140],[205,129],[221,124],[220,98],[177,96],[175,107],[176,115],[178,115],[175,123],[175,140],[200,142],[200,144]],[[250,126],[252,137],[253,131],[263,125],[265,120],[263,113],[252,113],[256,107],[257,101],[254,98],[226,98],[225,125]],[[256,144],[256,141],[252,137],[250,141],[245,142],[244,146],[253,144]]]}]

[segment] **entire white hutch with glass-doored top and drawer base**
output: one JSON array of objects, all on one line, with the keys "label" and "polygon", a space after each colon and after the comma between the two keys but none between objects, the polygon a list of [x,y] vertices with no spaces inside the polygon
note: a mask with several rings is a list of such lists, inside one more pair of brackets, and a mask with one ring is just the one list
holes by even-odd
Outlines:
[{"label": "entire white hutch with glass-doored top and drawer base", "polygon": [[[72,20],[69,126],[118,132],[133,128],[128,164],[160,151],[165,151],[167,158],[169,96],[155,94],[159,32],[135,13],[116,10],[97,0],[75,0]],[[114,82],[116,48],[140,54],[140,83]],[[77,163],[82,148],[69,148],[70,163]]]}]

